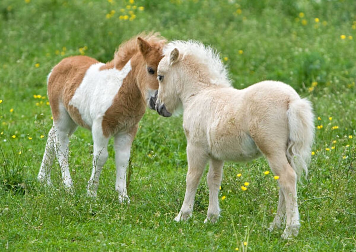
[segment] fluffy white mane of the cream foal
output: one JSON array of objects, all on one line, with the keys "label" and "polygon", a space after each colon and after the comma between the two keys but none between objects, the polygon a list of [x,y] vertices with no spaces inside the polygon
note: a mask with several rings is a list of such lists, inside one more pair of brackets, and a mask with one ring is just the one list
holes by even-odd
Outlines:
[{"label": "fluffy white mane of the cream foal", "polygon": [[208,68],[209,77],[212,84],[219,86],[231,86],[226,67],[221,62],[219,53],[210,46],[205,46],[199,41],[189,40],[181,41],[176,40],[169,42],[163,48],[163,54],[169,57],[169,54],[174,48],[177,48],[180,55],[193,56],[200,64]]}]

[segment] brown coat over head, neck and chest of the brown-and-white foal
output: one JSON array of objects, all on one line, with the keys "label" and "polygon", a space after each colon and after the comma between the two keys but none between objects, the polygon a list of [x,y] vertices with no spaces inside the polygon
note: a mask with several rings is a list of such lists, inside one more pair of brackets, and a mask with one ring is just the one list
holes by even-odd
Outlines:
[{"label": "brown coat over head, neck and chest of the brown-and-white foal", "polygon": [[[134,39],[135,44],[133,44]],[[104,136],[114,135],[118,131],[136,125],[141,120],[146,110],[147,90],[158,89],[157,67],[163,58],[162,48],[165,43],[165,39],[150,35],[147,40],[136,37],[119,47],[113,60],[115,67],[122,69],[131,59],[131,71],[115,95],[112,105],[105,112],[101,125]],[[129,57],[129,53],[124,53],[122,48],[135,54]],[[121,55],[121,58],[118,58],[118,55]],[[106,66],[112,64],[109,62]],[[151,67],[155,73],[149,74],[147,67]]]}]

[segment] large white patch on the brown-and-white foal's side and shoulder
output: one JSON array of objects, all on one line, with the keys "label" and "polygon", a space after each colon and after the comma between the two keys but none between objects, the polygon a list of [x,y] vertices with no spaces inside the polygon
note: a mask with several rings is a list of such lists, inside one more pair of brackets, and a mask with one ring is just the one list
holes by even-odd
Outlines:
[{"label": "large white patch on the brown-and-white foal's side and shoulder", "polygon": [[131,71],[131,61],[121,70],[116,68],[99,70],[103,65],[104,63],[96,63],[88,68],[82,83],[69,101],[69,105],[78,109],[83,121],[90,127],[95,119],[104,116],[122,82]]}]

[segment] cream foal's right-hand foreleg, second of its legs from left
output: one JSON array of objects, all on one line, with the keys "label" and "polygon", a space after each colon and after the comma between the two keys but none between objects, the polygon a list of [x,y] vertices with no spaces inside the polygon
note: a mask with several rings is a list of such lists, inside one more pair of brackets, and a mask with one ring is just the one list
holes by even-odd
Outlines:
[{"label": "cream foal's right-hand foreleg, second of its legs from left", "polygon": [[223,174],[223,165],[224,161],[210,159],[209,173],[206,176],[209,187],[209,208],[208,216],[204,223],[208,220],[214,223],[219,219],[219,188]]}]

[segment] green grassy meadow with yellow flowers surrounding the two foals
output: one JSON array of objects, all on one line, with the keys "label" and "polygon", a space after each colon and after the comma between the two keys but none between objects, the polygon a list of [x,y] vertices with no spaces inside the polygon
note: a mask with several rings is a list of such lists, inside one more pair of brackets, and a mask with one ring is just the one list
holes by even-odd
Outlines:
[{"label": "green grassy meadow with yellow flowers surrounding the two foals", "polygon": [[[130,205],[117,201],[112,141],[98,198],[86,197],[93,145],[84,129],[70,143],[75,194],[64,191],[58,164],[53,188],[37,182],[51,68],[79,54],[107,62],[122,41],[151,30],[215,47],[236,88],[280,80],[312,101],[316,138],[298,184],[297,238],[267,231],[278,185],[264,158],[225,164],[218,223],[203,223],[205,175],[192,218],[173,221],[187,170],[181,116],[147,110],[140,122]],[[355,32],[354,0],[1,0],[0,251],[356,251]]]}]

